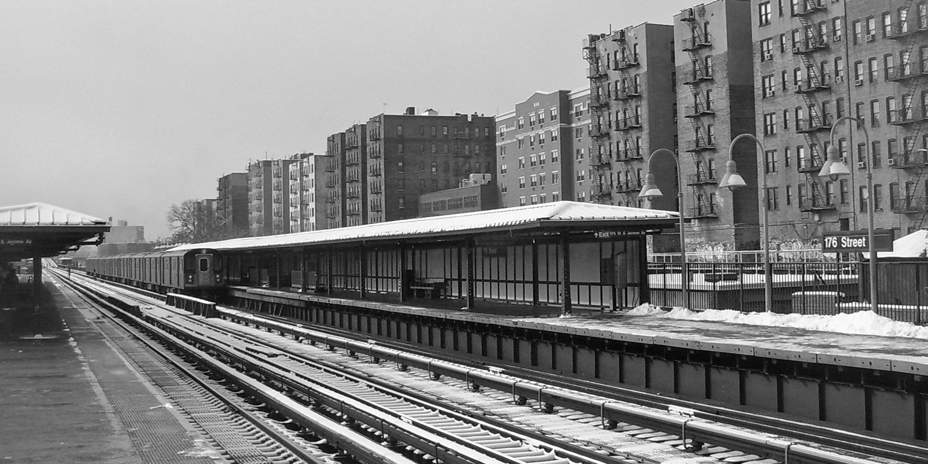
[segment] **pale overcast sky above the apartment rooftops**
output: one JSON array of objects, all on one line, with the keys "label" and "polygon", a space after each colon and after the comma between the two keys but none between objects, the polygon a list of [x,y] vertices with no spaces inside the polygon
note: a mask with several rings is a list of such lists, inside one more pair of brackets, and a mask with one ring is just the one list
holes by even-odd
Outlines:
[{"label": "pale overcast sky above the apartment rooftops", "polygon": [[586,86],[586,33],[694,4],[0,0],[0,206],[166,237],[173,203],[265,153],[324,152],[384,108],[492,115]]}]

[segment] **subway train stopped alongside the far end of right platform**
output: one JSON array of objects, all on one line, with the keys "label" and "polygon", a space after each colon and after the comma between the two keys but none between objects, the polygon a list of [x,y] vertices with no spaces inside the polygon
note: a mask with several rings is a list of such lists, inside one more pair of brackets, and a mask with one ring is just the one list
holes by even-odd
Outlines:
[{"label": "subway train stopped alongside the far end of right platform", "polygon": [[207,295],[224,286],[222,255],[212,249],[87,258],[85,270],[93,277],[161,293]]}]

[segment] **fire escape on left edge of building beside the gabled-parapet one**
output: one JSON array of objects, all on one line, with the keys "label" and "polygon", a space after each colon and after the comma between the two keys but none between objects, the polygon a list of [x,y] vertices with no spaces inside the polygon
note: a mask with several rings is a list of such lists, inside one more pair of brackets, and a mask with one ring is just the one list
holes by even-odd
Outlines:
[{"label": "fire escape on left edge of building beside the gabled-parapet one", "polygon": [[609,98],[605,96],[600,84],[605,79],[606,85],[609,85],[609,75],[599,60],[596,46],[599,38],[600,35],[589,35],[584,46],[584,59],[589,63],[590,137],[593,139],[590,174],[594,189],[590,200],[609,204],[612,200],[612,147],[610,129],[604,122],[605,116],[609,114]]}]

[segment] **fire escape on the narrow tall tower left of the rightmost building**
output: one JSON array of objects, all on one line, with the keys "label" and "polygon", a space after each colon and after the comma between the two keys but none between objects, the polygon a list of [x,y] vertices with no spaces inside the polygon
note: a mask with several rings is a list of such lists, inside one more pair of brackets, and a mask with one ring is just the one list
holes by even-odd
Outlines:
[{"label": "fire escape on the narrow tall tower left of the rightmost building", "polygon": [[[705,16],[703,9],[700,9],[698,16]],[[711,100],[702,97],[702,87],[704,87],[702,84],[711,84],[713,76],[710,64],[703,64],[703,58],[697,53],[712,46],[712,36],[708,31],[708,23],[704,23],[703,26],[697,19],[693,8],[684,10],[681,20],[690,26],[690,38],[683,40],[682,50],[687,52],[690,56],[690,63],[692,63],[690,78],[683,83],[690,87],[690,94],[692,94],[692,105],[684,107],[684,117],[690,120],[693,130],[693,139],[687,151],[692,157],[695,172],[687,177],[687,185],[692,188],[693,202],[689,216],[693,218],[718,217],[712,200],[715,194],[705,191],[706,187],[715,187],[715,173],[712,169],[705,169],[707,162],[703,159],[703,153],[715,150],[715,140],[708,129],[710,127],[708,124],[715,119],[715,108]],[[709,200],[706,200],[707,198]]]}]

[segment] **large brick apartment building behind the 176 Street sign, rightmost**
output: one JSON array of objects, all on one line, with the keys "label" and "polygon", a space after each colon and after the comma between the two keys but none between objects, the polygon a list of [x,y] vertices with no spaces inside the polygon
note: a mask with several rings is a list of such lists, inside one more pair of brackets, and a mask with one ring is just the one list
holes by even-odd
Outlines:
[{"label": "large brick apartment building behind the 176 Street sign, rightmost", "polygon": [[[758,132],[767,153],[770,238],[814,245],[821,233],[874,223],[905,234],[926,226],[928,7],[912,0],[753,0]],[[838,118],[862,118],[834,143],[851,170],[818,178]],[[899,234],[897,234],[899,235]]]}]

